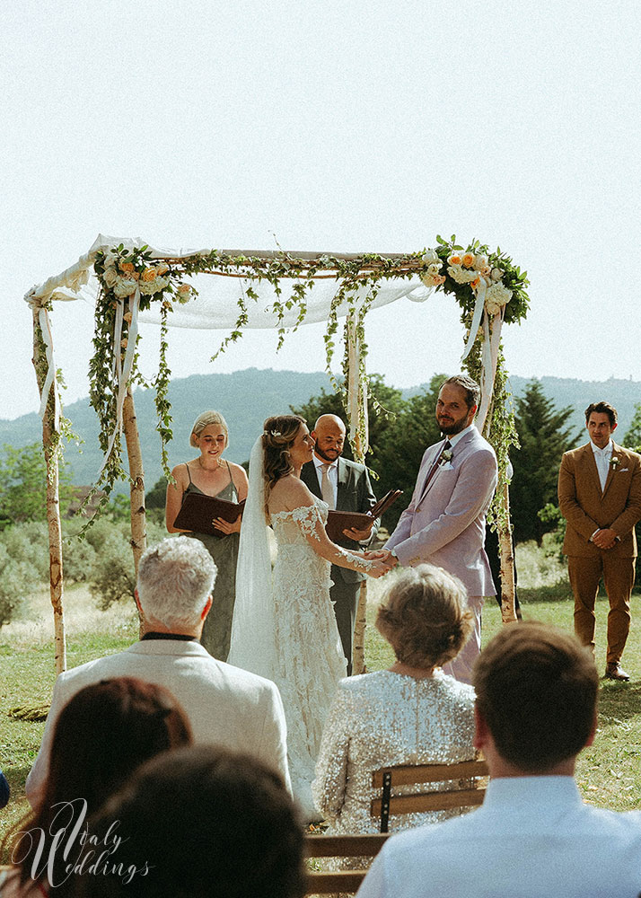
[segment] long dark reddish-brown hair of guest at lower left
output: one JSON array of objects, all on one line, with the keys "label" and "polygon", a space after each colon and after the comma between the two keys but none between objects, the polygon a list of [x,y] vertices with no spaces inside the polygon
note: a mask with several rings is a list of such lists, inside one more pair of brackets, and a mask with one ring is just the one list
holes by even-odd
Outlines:
[{"label": "long dark reddish-brown hair of guest at lower left", "polygon": [[[39,804],[7,836],[21,883],[47,881],[46,858],[62,819],[58,814],[75,821],[80,814],[93,814],[140,764],[191,741],[185,712],[163,686],[115,677],[76,692],[57,718]],[[40,830],[45,833],[45,861],[34,867],[40,840],[29,833]],[[62,850],[52,852],[58,881],[64,877],[62,855]],[[35,868],[40,871],[36,877]]]}]

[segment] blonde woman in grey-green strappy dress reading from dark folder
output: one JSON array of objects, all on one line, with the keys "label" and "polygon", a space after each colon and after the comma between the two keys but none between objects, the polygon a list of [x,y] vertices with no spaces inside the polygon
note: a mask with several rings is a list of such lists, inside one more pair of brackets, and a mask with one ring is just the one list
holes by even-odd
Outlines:
[{"label": "blonde woman in grey-green strappy dress reading from dark folder", "polygon": [[[176,465],[171,471],[175,483],[167,484],[165,519],[170,533],[186,533],[174,527],[182,500],[189,493],[215,496],[230,502],[247,497],[247,474],[240,464],[223,458],[229,442],[229,431],[223,416],[217,411],[204,411],[191,428],[189,444],[200,450],[198,458]],[[236,561],[241,532],[241,517],[229,524],[223,518],[213,522],[222,536],[208,533],[186,533],[206,545],[215,560],[218,574],[215,579],[214,603],[206,617],[201,643],[210,655],[226,661],[232,633],[233,603],[236,596]]]}]

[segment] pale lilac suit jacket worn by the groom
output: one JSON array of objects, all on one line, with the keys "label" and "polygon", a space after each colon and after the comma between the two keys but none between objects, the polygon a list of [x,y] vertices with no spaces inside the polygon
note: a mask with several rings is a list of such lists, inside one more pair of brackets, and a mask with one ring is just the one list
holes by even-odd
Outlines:
[{"label": "pale lilac suit jacket worn by the groom", "polygon": [[408,508],[386,543],[403,566],[421,562],[459,577],[470,595],[495,595],[483,549],[485,515],[496,489],[496,455],[476,427],[452,450],[452,462],[426,478],[444,440],[426,449]]}]

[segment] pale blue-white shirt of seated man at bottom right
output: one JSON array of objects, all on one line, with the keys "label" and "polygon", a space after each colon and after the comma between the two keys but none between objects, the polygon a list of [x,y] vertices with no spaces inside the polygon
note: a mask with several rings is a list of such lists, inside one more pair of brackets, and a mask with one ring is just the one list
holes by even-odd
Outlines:
[{"label": "pale blue-white shirt of seated man at bottom right", "polygon": [[478,810],[386,842],[357,898],[638,898],[641,811],[584,805],[572,777],[490,780]]}]

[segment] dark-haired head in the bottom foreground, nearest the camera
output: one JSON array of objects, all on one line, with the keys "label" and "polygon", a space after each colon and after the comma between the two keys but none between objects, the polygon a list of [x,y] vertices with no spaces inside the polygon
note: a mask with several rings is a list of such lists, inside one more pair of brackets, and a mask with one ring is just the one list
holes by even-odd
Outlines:
[{"label": "dark-haired head in the bottom foreground, nearest the camera", "polygon": [[302,898],[303,826],[282,779],[249,755],[209,745],[136,771],[90,821],[118,821],[110,862],[122,872],[77,876],[74,898]]}]

